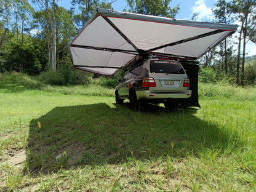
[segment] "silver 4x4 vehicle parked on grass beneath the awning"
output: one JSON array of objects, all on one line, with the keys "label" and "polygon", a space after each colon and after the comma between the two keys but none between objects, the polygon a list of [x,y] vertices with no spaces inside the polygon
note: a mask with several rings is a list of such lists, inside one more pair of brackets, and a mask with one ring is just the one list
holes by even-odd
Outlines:
[{"label": "silver 4x4 vehicle parked on grass beneath the awning", "polygon": [[116,103],[129,99],[134,110],[139,103],[164,103],[166,108],[183,106],[191,96],[190,79],[175,60],[147,58],[134,65],[116,87]]}]

